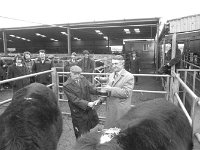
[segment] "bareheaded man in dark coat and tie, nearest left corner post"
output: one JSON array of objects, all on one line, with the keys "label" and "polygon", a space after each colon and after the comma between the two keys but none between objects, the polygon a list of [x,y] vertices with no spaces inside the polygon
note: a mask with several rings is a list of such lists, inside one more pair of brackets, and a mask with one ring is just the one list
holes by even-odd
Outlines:
[{"label": "bareheaded man in dark coat and tie, nearest left corner post", "polygon": [[[42,71],[47,71],[47,70],[51,70],[52,67],[53,67],[52,61],[45,58],[45,50],[40,50],[39,58],[37,58],[35,62],[33,63],[32,72],[38,73]],[[51,83],[51,74],[46,73],[46,74],[38,75],[36,76],[35,80],[38,83],[48,85]]]}]

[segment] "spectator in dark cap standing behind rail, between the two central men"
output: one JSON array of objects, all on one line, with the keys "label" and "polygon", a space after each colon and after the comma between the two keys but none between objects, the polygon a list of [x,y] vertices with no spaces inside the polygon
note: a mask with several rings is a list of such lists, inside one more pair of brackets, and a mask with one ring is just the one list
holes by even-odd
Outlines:
[{"label": "spectator in dark cap standing behind rail, between the two central men", "polygon": [[[83,59],[78,62],[78,66],[80,66],[83,72],[93,73],[94,72],[94,60],[89,57],[89,51],[83,51]],[[85,77],[92,82],[92,75],[85,75]]]}]

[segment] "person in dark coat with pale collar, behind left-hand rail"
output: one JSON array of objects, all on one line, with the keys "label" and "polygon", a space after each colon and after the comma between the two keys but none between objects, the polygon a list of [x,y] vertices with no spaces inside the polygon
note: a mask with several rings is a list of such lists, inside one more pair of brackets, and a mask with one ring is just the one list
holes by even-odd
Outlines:
[{"label": "person in dark coat with pale collar, behind left-hand rail", "polygon": [[[15,58],[14,64],[8,67],[8,75],[7,78],[15,78],[19,76],[25,76],[29,74],[28,68],[23,63],[23,58],[20,55],[17,55]],[[27,86],[30,84],[30,78],[24,78],[20,80],[13,81],[11,83],[13,88],[13,93],[15,93],[17,90]]]}]

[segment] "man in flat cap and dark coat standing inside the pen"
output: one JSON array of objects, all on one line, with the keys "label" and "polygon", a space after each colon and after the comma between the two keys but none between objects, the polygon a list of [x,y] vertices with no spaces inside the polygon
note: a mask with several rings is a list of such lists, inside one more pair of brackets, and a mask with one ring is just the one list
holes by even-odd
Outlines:
[{"label": "man in flat cap and dark coat standing inside the pen", "polygon": [[98,100],[92,102],[90,94],[101,95],[101,93],[81,75],[81,72],[82,69],[79,66],[72,66],[70,77],[63,84],[63,90],[71,110],[76,138],[89,132],[99,122],[97,112],[93,109]]}]

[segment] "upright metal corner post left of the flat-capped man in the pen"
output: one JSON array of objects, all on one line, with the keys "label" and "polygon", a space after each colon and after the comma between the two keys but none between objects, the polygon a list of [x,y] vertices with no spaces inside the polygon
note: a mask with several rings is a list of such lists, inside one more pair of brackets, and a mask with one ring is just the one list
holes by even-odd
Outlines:
[{"label": "upright metal corner post left of the flat-capped man in the pen", "polygon": [[58,80],[58,74],[56,71],[56,67],[51,68],[52,72],[51,72],[51,77],[52,77],[52,84],[53,84],[53,92],[56,94],[56,97],[58,97],[58,84],[59,84],[59,80]]}]

